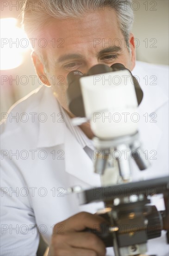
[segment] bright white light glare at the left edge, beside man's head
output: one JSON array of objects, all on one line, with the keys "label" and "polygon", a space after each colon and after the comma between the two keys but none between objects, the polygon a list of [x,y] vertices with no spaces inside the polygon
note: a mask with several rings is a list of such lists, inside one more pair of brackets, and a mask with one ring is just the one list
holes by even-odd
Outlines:
[{"label": "bright white light glare at the left edge, beside man's head", "polygon": [[0,19],[0,69],[19,67],[23,61],[23,53],[30,49],[24,31],[16,26],[17,19]]}]

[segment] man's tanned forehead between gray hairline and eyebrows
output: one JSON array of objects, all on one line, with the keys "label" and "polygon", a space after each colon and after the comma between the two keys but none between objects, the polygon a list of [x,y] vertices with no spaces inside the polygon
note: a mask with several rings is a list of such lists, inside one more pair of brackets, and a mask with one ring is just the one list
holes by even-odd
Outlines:
[{"label": "man's tanned forehead between gray hairline and eyebrows", "polygon": [[90,55],[98,57],[100,51],[114,46],[116,48],[110,49],[110,52],[119,51],[117,47],[121,45],[122,33],[114,13],[114,10],[104,10],[88,13],[83,19],[50,20],[43,34],[47,44],[43,50],[47,58],[56,56],[56,62],[62,62]]}]

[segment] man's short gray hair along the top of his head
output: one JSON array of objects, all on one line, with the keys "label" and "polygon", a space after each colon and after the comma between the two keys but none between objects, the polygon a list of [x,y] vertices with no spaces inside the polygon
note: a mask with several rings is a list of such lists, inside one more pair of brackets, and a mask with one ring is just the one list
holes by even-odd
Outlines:
[{"label": "man's short gray hair along the top of his head", "polygon": [[83,18],[85,13],[109,7],[117,13],[119,28],[130,51],[129,36],[133,24],[132,0],[25,0],[22,24],[29,38],[43,33],[51,18]]}]

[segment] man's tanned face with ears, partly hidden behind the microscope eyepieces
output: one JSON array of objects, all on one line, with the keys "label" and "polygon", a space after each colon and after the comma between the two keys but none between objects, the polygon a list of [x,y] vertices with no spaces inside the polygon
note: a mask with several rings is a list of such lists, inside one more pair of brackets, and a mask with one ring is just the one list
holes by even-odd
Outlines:
[{"label": "man's tanned face with ears, partly hidden behind the microscope eyepieces", "polygon": [[[122,63],[132,70],[135,65],[135,50],[131,34],[131,54],[126,47],[114,10],[94,11],[84,19],[53,19],[44,28],[50,47],[44,48],[47,56],[48,85],[51,85],[59,103],[69,112],[66,98],[66,77],[72,70],[83,74],[96,64]],[[39,75],[43,74],[39,61],[34,63]],[[70,114],[70,113],[69,113]]]}]

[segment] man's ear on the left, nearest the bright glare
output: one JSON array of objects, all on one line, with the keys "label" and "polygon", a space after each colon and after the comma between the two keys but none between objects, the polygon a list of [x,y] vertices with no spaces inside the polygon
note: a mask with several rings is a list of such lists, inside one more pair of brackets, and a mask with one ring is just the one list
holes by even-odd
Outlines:
[{"label": "man's ear on the left, nearest the bright glare", "polygon": [[38,77],[41,80],[41,82],[47,86],[50,86],[50,82],[47,78],[47,75],[44,72],[44,64],[42,63],[42,61],[40,61],[38,55],[35,52],[32,52],[31,58],[32,58],[36,72],[37,72]]}]

